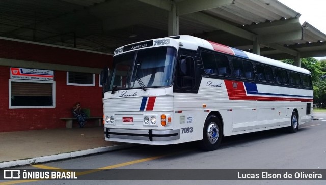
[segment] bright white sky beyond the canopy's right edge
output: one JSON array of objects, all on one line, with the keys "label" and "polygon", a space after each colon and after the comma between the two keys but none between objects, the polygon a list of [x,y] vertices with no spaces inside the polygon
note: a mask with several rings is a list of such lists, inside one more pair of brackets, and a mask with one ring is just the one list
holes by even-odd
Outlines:
[{"label": "bright white sky beyond the canopy's right edge", "polygon": [[[278,0],[292,10],[301,14],[299,21],[305,21],[326,34],[326,1],[325,0]],[[326,57],[317,57],[325,59]]]}]

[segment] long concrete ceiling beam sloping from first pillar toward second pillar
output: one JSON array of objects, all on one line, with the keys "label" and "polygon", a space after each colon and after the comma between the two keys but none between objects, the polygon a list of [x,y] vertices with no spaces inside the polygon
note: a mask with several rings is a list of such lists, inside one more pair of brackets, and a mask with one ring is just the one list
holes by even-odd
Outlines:
[{"label": "long concrete ceiling beam sloping from first pillar toward second pillar", "polygon": [[201,12],[186,14],[186,15],[184,15],[184,17],[192,19],[193,21],[207,24],[207,25],[212,26],[218,30],[223,30],[224,32],[236,35],[236,36],[244,38],[244,39],[248,39],[250,41],[254,41],[257,38],[257,35],[249,32],[247,30],[233,26],[231,24],[228,24],[226,22],[223,22],[219,19],[213,18],[213,17],[206,15],[204,13],[201,13]]}]

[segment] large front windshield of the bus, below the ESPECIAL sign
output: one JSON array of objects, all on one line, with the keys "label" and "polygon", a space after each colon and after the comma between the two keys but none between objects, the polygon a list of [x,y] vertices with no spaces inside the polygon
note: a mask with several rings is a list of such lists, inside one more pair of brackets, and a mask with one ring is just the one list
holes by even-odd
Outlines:
[{"label": "large front windshield of the bus, below the ESPECIAL sign", "polygon": [[175,48],[159,47],[115,56],[108,90],[171,86],[176,55]]}]

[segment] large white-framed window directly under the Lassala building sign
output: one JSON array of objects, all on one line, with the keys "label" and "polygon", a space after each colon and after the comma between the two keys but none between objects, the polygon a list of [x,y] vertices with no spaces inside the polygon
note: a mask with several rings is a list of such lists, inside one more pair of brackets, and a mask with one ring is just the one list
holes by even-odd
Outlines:
[{"label": "large white-framed window directly under the Lassala building sign", "polygon": [[55,107],[55,82],[9,80],[9,108]]}]

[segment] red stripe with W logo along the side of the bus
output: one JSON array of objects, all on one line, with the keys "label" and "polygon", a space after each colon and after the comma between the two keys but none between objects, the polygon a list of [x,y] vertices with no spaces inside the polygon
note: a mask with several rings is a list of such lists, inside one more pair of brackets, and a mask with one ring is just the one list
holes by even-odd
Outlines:
[{"label": "red stripe with W logo along the side of the bus", "polygon": [[[300,101],[312,102],[309,98],[286,98],[286,97],[264,97],[264,96],[247,96],[243,82],[224,80],[230,100],[256,100],[256,101]],[[236,88],[233,86],[236,85]]]}]

